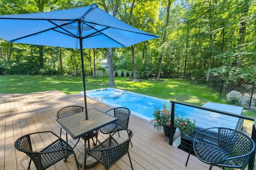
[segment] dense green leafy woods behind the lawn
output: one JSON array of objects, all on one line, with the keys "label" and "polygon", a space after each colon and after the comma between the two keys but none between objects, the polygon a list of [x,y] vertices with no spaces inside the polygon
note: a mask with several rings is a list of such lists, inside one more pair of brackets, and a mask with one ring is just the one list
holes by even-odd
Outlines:
[{"label": "dense green leafy woods behind the lawn", "polygon": [[[189,77],[203,83],[213,76],[236,83],[255,79],[256,0],[1,0],[0,15],[94,2],[160,38],[126,48],[84,49],[86,76],[104,70],[100,62],[111,58],[114,70],[133,71],[134,78],[150,73],[157,79]],[[80,51],[0,39],[0,74],[80,76]]]}]

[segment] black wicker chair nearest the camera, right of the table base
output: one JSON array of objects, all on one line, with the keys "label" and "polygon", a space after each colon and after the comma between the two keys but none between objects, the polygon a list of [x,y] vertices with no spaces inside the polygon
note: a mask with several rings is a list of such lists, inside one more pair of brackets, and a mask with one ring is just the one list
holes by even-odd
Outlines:
[{"label": "black wicker chair nearest the camera, right of the table base", "polygon": [[[103,141],[93,149],[86,148],[85,153],[91,155],[96,160],[98,160],[101,164],[103,164],[105,170],[108,170],[112,165],[114,165],[118,160],[120,160],[127,153],[130,160],[131,168],[133,170],[132,161],[129,154],[129,144],[130,144],[130,140],[132,138],[133,133],[128,129],[124,129],[124,130],[128,132],[128,139],[126,139],[124,142],[118,143],[114,139],[113,135],[117,132],[115,131],[114,133],[112,133],[112,135],[108,139],[106,139],[105,141]],[[85,158],[85,162],[86,162],[86,158]]]}]

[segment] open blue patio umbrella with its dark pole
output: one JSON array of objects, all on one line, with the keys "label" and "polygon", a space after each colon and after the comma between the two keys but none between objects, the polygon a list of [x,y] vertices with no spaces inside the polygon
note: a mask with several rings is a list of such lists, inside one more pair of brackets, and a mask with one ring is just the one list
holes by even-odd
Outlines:
[{"label": "open blue patio umbrella with its dark pole", "polygon": [[80,49],[86,119],[82,49],[128,47],[159,37],[114,18],[96,3],[68,10],[0,16],[0,25],[0,38],[10,43]]}]

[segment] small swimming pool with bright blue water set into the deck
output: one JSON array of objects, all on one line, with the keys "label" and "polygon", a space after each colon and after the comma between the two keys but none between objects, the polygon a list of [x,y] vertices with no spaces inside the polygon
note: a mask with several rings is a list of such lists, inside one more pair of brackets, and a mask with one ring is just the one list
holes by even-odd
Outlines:
[{"label": "small swimming pool with bright blue water set into the deck", "polygon": [[[80,94],[84,95],[84,92],[80,92]],[[160,98],[154,98],[116,88],[89,90],[86,92],[86,96],[112,107],[127,107],[132,114],[149,121],[153,119],[152,113],[154,109],[156,107],[162,107],[165,101]],[[176,107],[175,113],[182,114],[186,117],[195,110],[195,108],[180,105]]]}]

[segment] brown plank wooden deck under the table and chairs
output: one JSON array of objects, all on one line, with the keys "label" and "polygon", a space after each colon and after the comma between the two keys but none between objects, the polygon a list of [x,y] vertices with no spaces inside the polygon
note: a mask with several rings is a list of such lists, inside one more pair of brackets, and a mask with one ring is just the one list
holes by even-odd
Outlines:
[{"label": "brown plank wooden deck under the table and chairs", "polygon": [[[110,106],[88,98],[88,109],[97,108],[107,111]],[[83,96],[80,94],[66,95],[57,90],[37,92],[31,94],[0,94],[0,169],[23,170],[28,167],[26,154],[14,148],[14,142],[18,137],[37,131],[53,131],[60,133],[56,119],[58,109],[68,105],[83,105]],[[195,156],[190,156],[188,166],[185,167],[188,153],[168,145],[164,142],[166,137],[163,132],[157,132],[148,121],[130,116],[129,129],[134,133],[132,137],[133,147],[130,147],[132,164],[136,170],[204,170],[209,166],[200,162]],[[121,133],[116,139],[121,141],[126,138],[126,133]],[[63,139],[66,139],[62,133]],[[108,135],[100,134],[99,140],[103,141]],[[68,136],[70,145],[76,143]],[[51,139],[48,135],[33,139],[36,149],[48,145]],[[76,146],[75,153],[78,156],[84,148],[83,141]],[[32,163],[32,170],[35,169]],[[49,170],[74,170],[75,160],[72,156],[67,162],[60,161]],[[91,170],[103,170],[101,164],[97,164]],[[111,168],[112,170],[129,170],[128,156],[124,156]],[[213,168],[218,169],[218,168]]]}]

